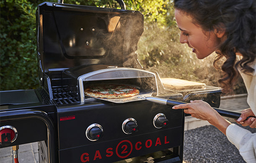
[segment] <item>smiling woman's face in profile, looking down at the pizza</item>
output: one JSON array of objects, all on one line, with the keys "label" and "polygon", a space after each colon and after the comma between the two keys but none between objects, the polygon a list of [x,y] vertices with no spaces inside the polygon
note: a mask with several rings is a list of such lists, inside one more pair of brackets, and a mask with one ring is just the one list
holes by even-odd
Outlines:
[{"label": "smiling woman's face in profile, looking down at the pizza", "polygon": [[198,59],[203,59],[218,50],[220,38],[215,35],[214,31],[205,32],[199,25],[192,23],[191,16],[177,9],[175,10],[175,19],[181,30],[180,43],[187,43],[193,53],[196,53]]}]

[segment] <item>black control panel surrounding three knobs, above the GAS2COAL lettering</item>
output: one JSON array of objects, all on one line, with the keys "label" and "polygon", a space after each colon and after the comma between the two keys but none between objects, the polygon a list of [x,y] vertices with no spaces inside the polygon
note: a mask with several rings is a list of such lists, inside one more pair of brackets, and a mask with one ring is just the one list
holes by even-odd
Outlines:
[{"label": "black control panel surrounding three knobs, above the GAS2COAL lettering", "polygon": [[[153,125],[154,116],[164,113],[170,124],[163,129],[182,127],[182,110],[172,110],[168,106],[157,105],[148,101],[131,102],[125,104],[90,103],[76,107],[58,107],[59,149],[73,148],[79,145],[95,144],[119,138],[133,137],[159,131]],[[61,120],[64,117],[75,116],[74,119]],[[127,135],[122,130],[122,123],[127,118],[136,119],[139,130]],[[104,136],[96,142],[85,136],[86,128],[92,123],[102,125]],[[76,125],[79,124],[79,125]],[[72,134],[67,135],[67,128],[72,128]],[[73,139],[73,134],[76,139]],[[78,141],[79,140],[79,141]],[[66,142],[62,143],[61,142]]]}]

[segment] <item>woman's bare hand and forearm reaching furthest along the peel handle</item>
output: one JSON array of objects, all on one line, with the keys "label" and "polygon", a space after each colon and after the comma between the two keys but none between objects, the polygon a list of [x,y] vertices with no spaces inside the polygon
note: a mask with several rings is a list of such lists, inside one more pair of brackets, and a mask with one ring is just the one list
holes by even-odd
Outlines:
[{"label": "woman's bare hand and forearm reaching furthest along the peel handle", "polygon": [[210,124],[217,127],[226,135],[226,129],[231,124],[224,119],[216,110],[214,110],[208,103],[202,100],[190,101],[190,103],[176,105],[173,109],[184,109],[184,113],[191,114],[192,117],[201,120],[207,120]]}]

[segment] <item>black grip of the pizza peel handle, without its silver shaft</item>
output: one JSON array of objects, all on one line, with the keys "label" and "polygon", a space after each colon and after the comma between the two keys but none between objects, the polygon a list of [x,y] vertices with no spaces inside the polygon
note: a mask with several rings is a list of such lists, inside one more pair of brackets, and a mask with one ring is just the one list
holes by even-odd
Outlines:
[{"label": "black grip of the pizza peel handle, without its silver shaft", "polygon": [[[179,105],[179,104],[185,104],[185,102],[176,101],[176,100],[167,100],[167,102],[166,102],[166,105],[169,105],[169,106],[174,106],[174,105]],[[236,111],[230,111],[230,110],[225,110],[225,109],[220,109],[220,108],[213,108],[213,109],[215,109],[223,117],[238,119],[241,116],[241,113],[236,112]],[[252,116],[250,116],[250,117],[252,117]],[[250,117],[247,117],[246,119],[248,119]]]}]

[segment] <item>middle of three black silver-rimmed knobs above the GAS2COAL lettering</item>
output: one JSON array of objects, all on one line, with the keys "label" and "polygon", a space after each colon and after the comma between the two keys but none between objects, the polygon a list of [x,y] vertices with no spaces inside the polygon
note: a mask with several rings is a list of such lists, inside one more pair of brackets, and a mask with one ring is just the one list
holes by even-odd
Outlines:
[{"label": "middle of three black silver-rimmed knobs above the GAS2COAL lettering", "polygon": [[123,132],[126,134],[135,133],[138,131],[138,124],[135,119],[127,118],[122,124]]}]

